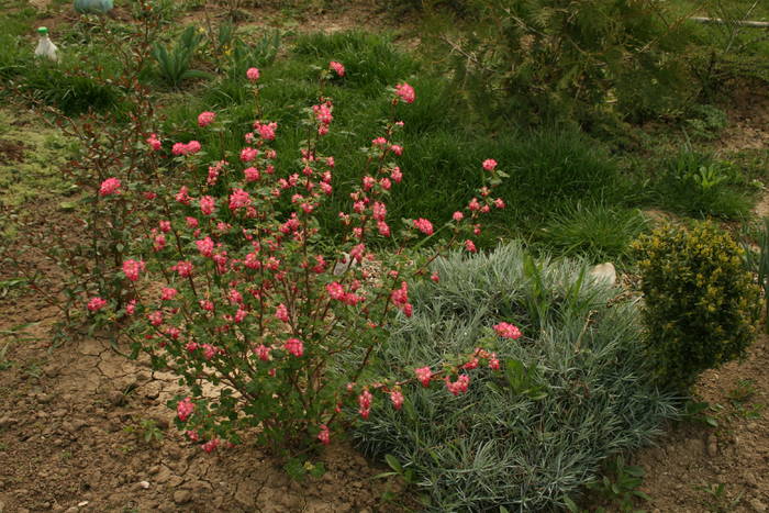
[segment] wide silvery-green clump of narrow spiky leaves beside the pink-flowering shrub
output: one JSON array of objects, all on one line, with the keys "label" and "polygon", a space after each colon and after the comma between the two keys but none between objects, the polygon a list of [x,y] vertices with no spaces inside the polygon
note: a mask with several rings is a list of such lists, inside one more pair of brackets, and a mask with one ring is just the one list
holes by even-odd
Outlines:
[{"label": "wide silvery-green clump of narrow spiky leaves beside the pink-flowering shrub", "polygon": [[438,368],[500,321],[524,336],[498,341],[504,370],[472,371],[466,394],[410,386],[402,411],[375,402],[355,432],[364,450],[413,471],[430,511],[562,508],[605,458],[647,443],[676,414],[649,383],[635,303],[608,306],[617,291],[584,266],[534,260],[512,244],[434,270],[439,283],[410,292],[414,314],[379,349],[377,376]]}]

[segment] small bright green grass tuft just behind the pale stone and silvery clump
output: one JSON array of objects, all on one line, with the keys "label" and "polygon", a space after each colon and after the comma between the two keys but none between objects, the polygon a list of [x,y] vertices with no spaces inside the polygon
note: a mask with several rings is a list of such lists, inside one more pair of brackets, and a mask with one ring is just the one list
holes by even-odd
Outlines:
[{"label": "small bright green grass tuft just behind the pale stone and silvery clump", "polygon": [[583,255],[594,263],[621,261],[646,226],[636,209],[580,202],[554,215],[539,236],[561,255]]}]

